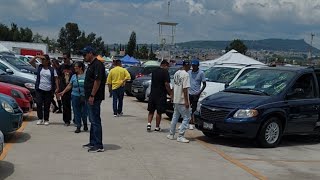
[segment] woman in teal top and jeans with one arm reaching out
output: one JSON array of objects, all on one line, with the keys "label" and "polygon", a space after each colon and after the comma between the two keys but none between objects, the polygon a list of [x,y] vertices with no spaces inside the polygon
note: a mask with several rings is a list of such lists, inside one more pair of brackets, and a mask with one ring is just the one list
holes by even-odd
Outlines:
[{"label": "woman in teal top and jeans with one arm reaching out", "polygon": [[[59,95],[63,97],[65,93],[72,90],[71,101],[72,101],[73,117],[75,119],[75,124],[77,126],[75,133],[80,133],[82,124],[83,124],[83,130],[88,131],[87,105],[85,102],[85,94],[84,94],[85,66],[82,62],[75,62],[73,67],[74,67],[75,74],[72,75],[70,83],[61,93],[59,93]],[[82,120],[82,123],[81,123],[81,120]]]}]

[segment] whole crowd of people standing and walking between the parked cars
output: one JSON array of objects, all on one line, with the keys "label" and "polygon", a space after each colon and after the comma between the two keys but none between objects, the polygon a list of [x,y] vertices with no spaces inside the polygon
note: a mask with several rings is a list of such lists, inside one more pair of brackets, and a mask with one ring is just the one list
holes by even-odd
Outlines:
[{"label": "whole crowd of people standing and walking between the parked cars", "polygon": [[[49,123],[50,106],[53,112],[62,113],[65,126],[70,126],[73,120],[75,133],[88,131],[90,122],[89,143],[83,145],[88,152],[103,152],[101,103],[105,99],[105,84],[108,84],[110,97],[113,98],[113,115],[123,115],[124,86],[131,79],[130,73],[122,67],[121,60],[113,61],[113,68],[106,77],[105,67],[96,57],[95,49],[85,47],[81,53],[84,62],[71,63],[69,53],[63,54],[63,63],[60,65],[56,59],[48,55],[35,56],[30,64],[37,68],[36,103],[37,125]],[[41,64],[36,64],[41,59]],[[191,69],[192,66],[192,70]],[[193,129],[193,113],[196,111],[199,97],[206,87],[204,73],[199,70],[199,61],[184,61],[183,67],[174,74],[170,82],[168,72],[169,62],[163,60],[160,68],[152,73],[151,93],[148,102],[147,131],[151,131],[151,123],[156,113],[156,127],[154,131],[161,131],[161,116],[166,111],[167,95],[174,104],[174,114],[171,121],[170,133],[167,138],[177,139],[178,142],[187,143],[184,137],[187,129]],[[170,87],[170,83],[172,87]],[[55,101],[58,102],[58,105]],[[72,109],[71,109],[72,107]],[[190,108],[191,107],[191,108]],[[73,119],[72,119],[73,112]],[[178,137],[175,138],[176,124],[183,118],[179,127]]]}]

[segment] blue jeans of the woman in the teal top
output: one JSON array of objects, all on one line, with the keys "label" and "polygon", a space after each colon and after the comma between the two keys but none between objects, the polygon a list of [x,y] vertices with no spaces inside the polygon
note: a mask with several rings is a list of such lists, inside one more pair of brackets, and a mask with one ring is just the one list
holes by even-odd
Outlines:
[{"label": "blue jeans of the woman in the teal top", "polygon": [[77,125],[77,128],[81,128],[81,119],[83,122],[84,126],[87,126],[87,106],[86,102],[81,102],[80,101],[80,96],[71,96],[71,101],[72,101],[72,109],[73,109],[73,116],[74,116],[74,121]]}]

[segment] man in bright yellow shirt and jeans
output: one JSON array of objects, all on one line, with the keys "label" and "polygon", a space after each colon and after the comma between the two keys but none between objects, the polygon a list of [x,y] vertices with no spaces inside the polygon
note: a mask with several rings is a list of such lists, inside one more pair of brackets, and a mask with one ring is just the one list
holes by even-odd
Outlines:
[{"label": "man in bright yellow shirt and jeans", "polygon": [[107,84],[109,89],[112,89],[113,116],[117,117],[123,114],[124,85],[131,77],[129,72],[121,67],[121,60],[115,60],[114,65],[108,74]]}]

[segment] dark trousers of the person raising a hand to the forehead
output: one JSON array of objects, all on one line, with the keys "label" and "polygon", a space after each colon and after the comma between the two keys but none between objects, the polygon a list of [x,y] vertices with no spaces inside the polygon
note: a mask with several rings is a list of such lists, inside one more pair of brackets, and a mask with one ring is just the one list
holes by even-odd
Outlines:
[{"label": "dark trousers of the person raising a hand to the forehead", "polygon": [[49,121],[50,104],[52,100],[52,91],[36,91],[37,115],[38,119]]}]

